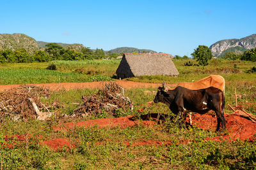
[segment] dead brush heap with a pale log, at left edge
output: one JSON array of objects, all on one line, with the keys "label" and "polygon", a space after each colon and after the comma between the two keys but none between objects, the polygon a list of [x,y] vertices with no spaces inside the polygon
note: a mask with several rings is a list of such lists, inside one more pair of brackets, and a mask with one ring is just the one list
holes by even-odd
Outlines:
[{"label": "dead brush heap with a pale log, at left edge", "polygon": [[40,102],[40,97],[49,97],[49,88],[41,88],[33,85],[21,85],[20,87],[0,92],[0,120],[10,117],[12,120],[40,119],[45,108]]}]

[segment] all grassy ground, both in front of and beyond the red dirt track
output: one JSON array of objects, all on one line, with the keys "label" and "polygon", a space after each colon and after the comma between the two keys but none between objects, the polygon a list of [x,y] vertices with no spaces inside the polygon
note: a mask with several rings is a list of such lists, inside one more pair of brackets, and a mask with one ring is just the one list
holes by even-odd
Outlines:
[{"label": "all grassy ground, both in front of and beyond the red dirt track", "polygon": [[[48,63],[5,64],[0,66],[0,82],[1,84],[49,82],[47,80],[51,76],[52,80],[55,77],[55,80],[60,82],[72,80],[74,82],[83,79],[83,77],[90,78],[95,75],[110,79],[115,74],[118,62],[120,60],[97,60],[82,64],[56,61],[54,64],[57,66],[57,71],[46,70],[45,67],[48,66]],[[256,74],[245,73],[246,70],[255,66],[255,63],[212,60],[206,67],[188,67],[184,66],[184,62],[187,60],[174,60],[174,62],[180,72],[178,77],[142,76],[128,80],[143,82],[161,82],[164,80],[168,83],[177,83],[199,80],[209,74],[221,74],[226,80],[226,103],[234,106],[236,101],[234,88],[236,88],[237,94],[242,95],[237,99],[237,103],[242,105],[244,110],[256,115]],[[237,65],[234,66],[234,64]],[[102,74],[100,71],[108,70],[107,67],[109,67],[109,72]],[[78,73],[77,69],[84,69],[85,72]],[[100,73],[92,71],[92,74],[86,74],[86,71],[90,69]],[[48,77],[46,73],[49,74]],[[47,78],[44,79],[45,76]],[[66,77],[60,80],[61,76]],[[13,81],[11,81],[12,79]],[[83,81],[88,80],[84,79]],[[152,101],[156,95],[155,91],[156,89],[152,88],[125,90],[125,95],[134,102],[134,110],[120,113],[119,116],[137,115],[139,117],[140,115],[136,110],[141,108],[141,104]],[[72,103],[81,103],[81,96],[90,96],[96,92],[97,89],[51,92],[49,99],[42,98],[41,100],[46,106],[54,100],[60,101],[62,107],[56,110],[56,113],[70,115],[78,107]],[[169,108],[164,104],[154,104],[147,107],[143,114],[147,113],[172,115]],[[225,113],[232,113],[231,110],[228,110],[227,105]],[[81,120],[111,117],[104,114]],[[180,129],[176,121],[168,120],[168,118],[166,122],[153,127],[144,127],[143,125],[125,129],[91,127],[56,132],[53,131],[53,127],[58,124],[58,121],[58,118],[54,117],[47,122],[35,120],[13,122],[9,118],[4,118],[0,124],[1,169],[253,169],[256,167],[255,142],[240,141],[239,139],[232,142],[205,141],[207,137],[220,134],[214,132],[214,129],[212,131],[196,127],[186,130]],[[6,136],[20,134],[25,136],[25,142],[19,143],[19,141],[10,139],[8,145],[15,145],[13,148],[4,146],[6,144],[3,145]],[[77,147],[72,148],[72,150],[62,148],[56,152],[42,145],[42,141],[54,138],[67,138],[69,141],[78,140],[79,142]],[[172,141],[172,145],[127,146],[124,144],[130,143],[132,145],[136,141],[148,140]],[[188,140],[190,141],[188,143],[181,142]]]}]

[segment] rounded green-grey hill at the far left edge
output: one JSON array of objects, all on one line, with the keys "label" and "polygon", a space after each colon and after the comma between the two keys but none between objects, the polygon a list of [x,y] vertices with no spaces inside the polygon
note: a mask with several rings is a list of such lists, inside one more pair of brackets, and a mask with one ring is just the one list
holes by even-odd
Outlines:
[{"label": "rounded green-grey hill at the far left edge", "polygon": [[25,48],[29,53],[39,50],[36,40],[26,34],[0,34],[0,50]]}]

